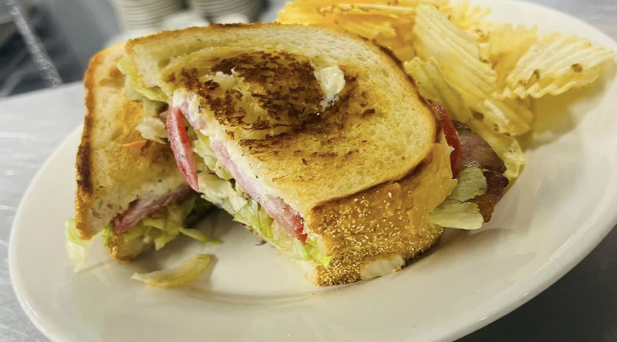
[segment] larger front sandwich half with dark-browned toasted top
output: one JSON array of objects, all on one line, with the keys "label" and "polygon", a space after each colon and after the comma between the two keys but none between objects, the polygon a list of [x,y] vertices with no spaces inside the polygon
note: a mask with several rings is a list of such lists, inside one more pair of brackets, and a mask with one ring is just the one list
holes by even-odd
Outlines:
[{"label": "larger front sandwich half with dark-browned toasted top", "polygon": [[479,228],[507,186],[494,151],[358,36],[211,25],[130,40],[125,53],[141,101],[169,108],[165,141],[185,183],[316,285],[397,271],[444,226]]}]

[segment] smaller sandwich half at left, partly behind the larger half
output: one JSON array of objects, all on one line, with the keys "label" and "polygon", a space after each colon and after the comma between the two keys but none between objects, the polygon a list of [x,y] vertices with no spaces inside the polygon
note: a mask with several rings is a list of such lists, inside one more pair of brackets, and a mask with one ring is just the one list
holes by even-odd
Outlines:
[{"label": "smaller sandwich half at left, partly behind the larger half", "polygon": [[[166,106],[149,102],[126,82],[119,44],[95,55],[84,77],[86,117],[77,152],[75,220],[67,224],[69,254],[84,257],[85,241],[102,232],[118,261],[160,250],[180,233],[210,241],[185,228],[208,203],[178,172],[162,140]],[[83,261],[83,260],[81,260]]]}]

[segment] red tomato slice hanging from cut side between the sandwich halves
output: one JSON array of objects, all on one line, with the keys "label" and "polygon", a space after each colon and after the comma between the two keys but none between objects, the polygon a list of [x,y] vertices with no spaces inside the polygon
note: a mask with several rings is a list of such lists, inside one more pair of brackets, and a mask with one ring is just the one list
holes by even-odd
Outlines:
[{"label": "red tomato slice hanging from cut side between the sandwich halves", "polygon": [[178,169],[186,183],[199,192],[197,183],[197,167],[195,166],[195,155],[193,155],[193,147],[189,141],[189,134],[186,133],[186,127],[182,122],[182,112],[178,108],[171,108],[167,116],[167,135],[169,136],[169,144],[173,155],[176,157]]}]

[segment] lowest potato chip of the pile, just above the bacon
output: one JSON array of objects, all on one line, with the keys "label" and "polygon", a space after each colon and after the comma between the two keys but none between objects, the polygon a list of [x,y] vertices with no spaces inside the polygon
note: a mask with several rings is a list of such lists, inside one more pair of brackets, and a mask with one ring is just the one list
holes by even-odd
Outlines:
[{"label": "lowest potato chip of the pile, just above the bacon", "polygon": [[525,159],[518,141],[514,137],[495,133],[479,120],[471,120],[465,124],[467,124],[474,133],[480,135],[503,160],[507,168],[503,175],[510,181],[516,179],[527,163],[527,159]]}]

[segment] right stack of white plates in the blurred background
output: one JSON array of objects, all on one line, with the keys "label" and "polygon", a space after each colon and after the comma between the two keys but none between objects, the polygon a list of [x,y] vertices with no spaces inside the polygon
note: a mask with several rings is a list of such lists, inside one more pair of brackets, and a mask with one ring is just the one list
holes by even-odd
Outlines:
[{"label": "right stack of white plates in the blurred background", "polygon": [[189,7],[215,23],[230,16],[254,21],[261,12],[261,0],[189,0]]}]

